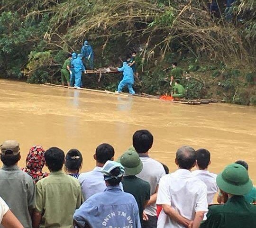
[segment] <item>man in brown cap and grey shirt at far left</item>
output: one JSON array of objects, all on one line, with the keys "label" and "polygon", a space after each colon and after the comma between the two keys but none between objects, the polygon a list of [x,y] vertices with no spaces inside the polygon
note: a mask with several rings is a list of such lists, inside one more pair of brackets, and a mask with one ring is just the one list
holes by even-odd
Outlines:
[{"label": "man in brown cap and grey shirt at far left", "polygon": [[19,144],[15,140],[7,140],[0,145],[0,150],[4,164],[0,169],[0,197],[24,228],[32,228],[35,184],[32,177],[18,167],[21,158]]}]

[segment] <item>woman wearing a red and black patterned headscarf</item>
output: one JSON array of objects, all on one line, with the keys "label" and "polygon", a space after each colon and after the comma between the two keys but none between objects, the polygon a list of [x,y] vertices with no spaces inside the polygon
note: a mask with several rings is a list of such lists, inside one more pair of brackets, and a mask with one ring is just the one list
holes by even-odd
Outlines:
[{"label": "woman wearing a red and black patterned headscarf", "polygon": [[32,176],[34,182],[37,183],[39,180],[48,176],[48,173],[42,172],[45,163],[45,150],[43,147],[32,146],[27,155],[26,167],[21,170]]}]

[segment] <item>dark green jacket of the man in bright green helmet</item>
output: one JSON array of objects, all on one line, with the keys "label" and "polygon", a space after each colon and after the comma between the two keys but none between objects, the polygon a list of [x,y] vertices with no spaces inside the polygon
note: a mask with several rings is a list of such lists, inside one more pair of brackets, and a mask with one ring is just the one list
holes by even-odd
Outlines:
[{"label": "dark green jacket of the man in bright green helmet", "polygon": [[256,227],[256,205],[243,196],[233,196],[225,204],[209,207],[207,219],[200,228],[253,228]]}]

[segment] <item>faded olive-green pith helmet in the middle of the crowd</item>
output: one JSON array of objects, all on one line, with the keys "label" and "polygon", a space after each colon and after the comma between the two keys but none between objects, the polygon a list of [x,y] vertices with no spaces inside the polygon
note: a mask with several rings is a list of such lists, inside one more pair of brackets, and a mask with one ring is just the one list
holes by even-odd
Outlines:
[{"label": "faded olive-green pith helmet in the middle of the crowd", "polygon": [[125,174],[130,176],[140,173],[143,168],[139,155],[133,150],[126,151],[119,157],[118,162],[125,167]]}]

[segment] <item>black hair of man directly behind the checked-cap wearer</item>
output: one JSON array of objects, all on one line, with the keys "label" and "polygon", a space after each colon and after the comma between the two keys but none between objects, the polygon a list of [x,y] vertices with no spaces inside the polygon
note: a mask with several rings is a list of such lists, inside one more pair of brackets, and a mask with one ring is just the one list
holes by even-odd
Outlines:
[{"label": "black hair of man directly behind the checked-cap wearer", "polygon": [[103,143],[96,148],[95,155],[97,162],[105,164],[115,155],[115,150],[110,144]]}]

